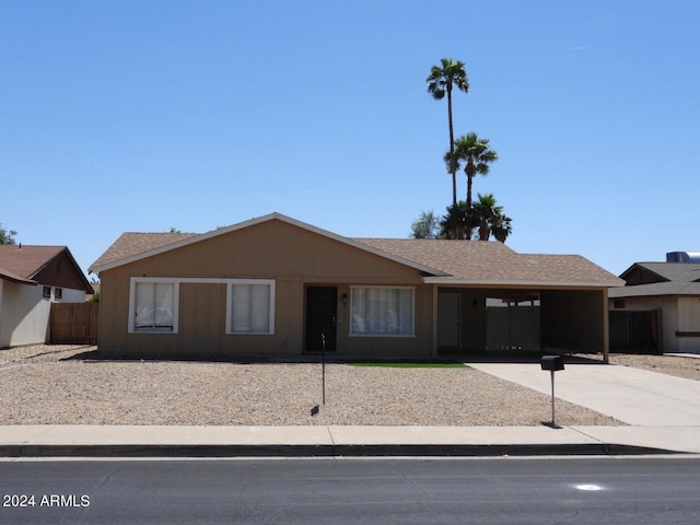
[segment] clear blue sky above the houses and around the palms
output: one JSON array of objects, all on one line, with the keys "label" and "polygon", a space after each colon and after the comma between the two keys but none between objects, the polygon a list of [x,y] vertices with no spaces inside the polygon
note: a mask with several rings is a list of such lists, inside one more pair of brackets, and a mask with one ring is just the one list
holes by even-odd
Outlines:
[{"label": "clear blue sky above the houses and around the palms", "polygon": [[407,237],[452,199],[425,90],[452,57],[506,244],[620,273],[700,250],[699,26],[693,0],[2,0],[0,222],[84,269],[272,211]]}]

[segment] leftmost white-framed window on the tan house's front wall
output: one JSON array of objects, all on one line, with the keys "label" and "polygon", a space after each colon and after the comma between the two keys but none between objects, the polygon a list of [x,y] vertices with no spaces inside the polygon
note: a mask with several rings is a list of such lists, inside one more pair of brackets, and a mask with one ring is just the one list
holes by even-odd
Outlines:
[{"label": "leftmost white-framed window on the tan house's front wall", "polygon": [[141,279],[132,280],[131,285],[129,331],[177,331],[179,287],[173,281]]}]

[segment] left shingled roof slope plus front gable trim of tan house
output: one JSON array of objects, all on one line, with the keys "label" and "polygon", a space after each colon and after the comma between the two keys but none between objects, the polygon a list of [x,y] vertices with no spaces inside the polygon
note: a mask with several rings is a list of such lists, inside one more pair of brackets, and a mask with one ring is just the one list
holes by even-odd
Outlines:
[{"label": "left shingled roof slope plus front gable trim of tan house", "polygon": [[152,257],[154,255],[170,252],[172,249],[176,249],[194,243],[206,241],[211,237],[225,235],[231,232],[235,232],[238,230],[243,230],[245,228],[249,228],[256,224],[260,224],[268,221],[275,221],[275,220],[282,221],[287,224],[292,224],[296,228],[301,228],[302,230],[316,233],[318,235],[331,238],[339,243],[416,268],[417,270],[423,273],[438,275],[438,276],[443,275],[442,271],[431,268],[429,266],[421,265],[413,260],[405,259],[395,254],[382,252],[372,246],[358,243],[352,238],[343,237],[336,233],[328,232],[327,230],[322,230],[319,228],[312,226],[311,224],[306,224],[304,222],[289,218],[281,213],[270,213],[268,215],[250,219],[249,221],[241,222],[238,224],[233,224],[226,228],[221,228],[219,230],[213,230],[211,232],[202,233],[202,234],[125,233],[109,248],[107,248],[107,252],[105,252],[93,265],[91,265],[91,267],[89,268],[89,271],[91,272],[94,271],[98,273],[101,271],[109,270],[112,268],[117,268],[119,266],[122,266],[129,262],[135,262],[137,260],[141,260],[147,257]]}]

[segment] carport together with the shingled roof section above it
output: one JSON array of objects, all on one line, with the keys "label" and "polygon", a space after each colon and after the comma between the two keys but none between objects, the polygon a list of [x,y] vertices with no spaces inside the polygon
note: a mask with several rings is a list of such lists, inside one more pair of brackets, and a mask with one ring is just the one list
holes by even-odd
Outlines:
[{"label": "carport together with the shingled roof section above it", "polygon": [[580,255],[518,254],[499,242],[360,238],[433,269],[432,354],[540,351],[607,360],[608,289],[625,281]]}]

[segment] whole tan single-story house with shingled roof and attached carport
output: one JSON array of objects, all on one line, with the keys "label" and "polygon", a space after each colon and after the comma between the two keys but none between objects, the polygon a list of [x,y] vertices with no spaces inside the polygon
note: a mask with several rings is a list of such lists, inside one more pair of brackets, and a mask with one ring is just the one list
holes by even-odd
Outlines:
[{"label": "whole tan single-story house with shingled roof and attached carport", "polygon": [[349,238],[272,213],[205,234],[125,233],[101,279],[98,349],[128,355],[607,355],[608,288],[580,256],[482,241]]}]

